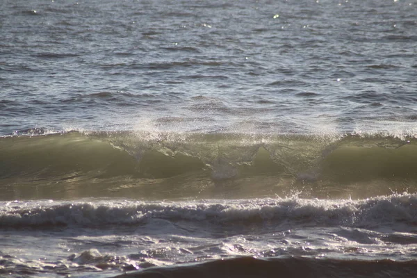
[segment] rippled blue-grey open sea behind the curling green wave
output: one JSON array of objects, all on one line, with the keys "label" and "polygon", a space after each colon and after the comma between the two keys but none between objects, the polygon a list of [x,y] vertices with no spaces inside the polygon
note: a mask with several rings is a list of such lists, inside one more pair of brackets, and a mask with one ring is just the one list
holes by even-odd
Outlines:
[{"label": "rippled blue-grey open sea behind the curling green wave", "polygon": [[414,1],[3,1],[0,13],[3,134],[415,129]]}]

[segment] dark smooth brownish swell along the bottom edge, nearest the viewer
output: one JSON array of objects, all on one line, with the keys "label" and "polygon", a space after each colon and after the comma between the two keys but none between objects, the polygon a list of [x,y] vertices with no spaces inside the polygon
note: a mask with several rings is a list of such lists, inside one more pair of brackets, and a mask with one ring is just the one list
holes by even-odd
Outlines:
[{"label": "dark smooth brownish swell along the bottom edge, nearest the viewer", "polygon": [[356,261],[284,257],[238,257],[205,263],[148,268],[119,275],[133,277],[416,277],[417,261]]}]

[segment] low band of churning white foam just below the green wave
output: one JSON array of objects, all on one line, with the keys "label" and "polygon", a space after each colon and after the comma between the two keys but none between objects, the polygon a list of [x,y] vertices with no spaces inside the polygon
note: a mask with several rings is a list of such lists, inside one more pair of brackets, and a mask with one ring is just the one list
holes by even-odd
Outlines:
[{"label": "low band of churning white foam just below the green wave", "polygon": [[417,221],[417,196],[404,193],[361,200],[277,199],[195,202],[8,202],[1,204],[0,224],[10,226],[145,224],[170,222],[293,222],[323,227],[373,227]]}]

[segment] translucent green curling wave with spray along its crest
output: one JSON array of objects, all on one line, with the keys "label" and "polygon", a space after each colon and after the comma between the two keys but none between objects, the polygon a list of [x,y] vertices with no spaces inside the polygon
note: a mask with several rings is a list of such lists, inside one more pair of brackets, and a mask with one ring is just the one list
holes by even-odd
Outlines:
[{"label": "translucent green curling wave with spray along its crest", "polygon": [[79,133],[0,139],[0,199],[370,197],[415,192],[417,145],[384,136]]}]

